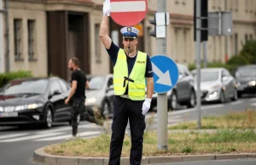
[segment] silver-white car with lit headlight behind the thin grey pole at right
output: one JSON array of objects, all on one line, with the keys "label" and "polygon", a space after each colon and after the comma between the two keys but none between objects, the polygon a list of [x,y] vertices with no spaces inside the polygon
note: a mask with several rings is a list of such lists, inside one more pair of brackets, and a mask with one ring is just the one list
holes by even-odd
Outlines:
[{"label": "silver-white car with lit headlight behind the thin grey pole at right", "polygon": [[[194,77],[196,82],[196,73]],[[197,89],[196,83],[195,89]],[[224,103],[227,99],[237,100],[236,80],[231,76],[230,71],[225,68],[202,68],[201,100]]]}]

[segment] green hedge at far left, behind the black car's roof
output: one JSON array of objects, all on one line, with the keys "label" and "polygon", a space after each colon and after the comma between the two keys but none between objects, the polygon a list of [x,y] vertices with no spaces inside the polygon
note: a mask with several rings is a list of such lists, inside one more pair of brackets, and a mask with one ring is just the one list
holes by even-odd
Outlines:
[{"label": "green hedge at far left, behind the black car's roof", "polygon": [[7,73],[0,74],[0,88],[3,87],[6,83],[16,78],[26,78],[33,77],[32,71],[11,71]]}]

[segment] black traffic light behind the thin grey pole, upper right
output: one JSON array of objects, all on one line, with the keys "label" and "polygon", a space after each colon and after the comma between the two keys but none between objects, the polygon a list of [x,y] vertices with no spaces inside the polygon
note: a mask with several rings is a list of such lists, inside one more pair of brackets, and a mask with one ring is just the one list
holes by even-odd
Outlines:
[{"label": "black traffic light behind the thin grey pole, upper right", "polygon": [[[194,40],[196,41],[196,0],[194,0]],[[208,17],[208,0],[201,0],[201,17]],[[208,41],[208,20],[201,19],[201,42]]]}]

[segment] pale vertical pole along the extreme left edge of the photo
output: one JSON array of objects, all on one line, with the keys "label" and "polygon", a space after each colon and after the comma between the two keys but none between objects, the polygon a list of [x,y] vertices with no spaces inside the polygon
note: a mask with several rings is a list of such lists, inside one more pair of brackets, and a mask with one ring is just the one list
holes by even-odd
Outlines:
[{"label": "pale vertical pole along the extreme left edge of the photo", "polygon": [[0,73],[4,72],[4,51],[3,51],[3,1],[0,0]]}]

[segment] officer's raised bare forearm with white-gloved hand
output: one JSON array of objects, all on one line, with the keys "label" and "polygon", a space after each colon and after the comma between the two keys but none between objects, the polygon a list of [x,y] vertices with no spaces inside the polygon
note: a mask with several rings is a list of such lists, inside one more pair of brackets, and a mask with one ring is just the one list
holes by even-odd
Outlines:
[{"label": "officer's raised bare forearm with white-gloved hand", "polygon": [[100,37],[105,48],[109,49],[111,46],[111,38],[108,36],[109,31],[109,15],[111,11],[110,0],[106,0],[103,3],[103,17],[100,27]]}]

